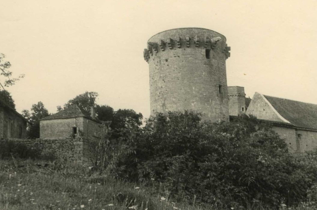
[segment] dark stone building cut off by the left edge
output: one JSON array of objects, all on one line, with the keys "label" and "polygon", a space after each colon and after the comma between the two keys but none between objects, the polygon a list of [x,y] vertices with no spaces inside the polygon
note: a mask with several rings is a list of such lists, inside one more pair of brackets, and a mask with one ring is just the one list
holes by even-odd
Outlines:
[{"label": "dark stone building cut off by the left edge", "polygon": [[27,120],[0,99],[0,139],[26,138]]}]

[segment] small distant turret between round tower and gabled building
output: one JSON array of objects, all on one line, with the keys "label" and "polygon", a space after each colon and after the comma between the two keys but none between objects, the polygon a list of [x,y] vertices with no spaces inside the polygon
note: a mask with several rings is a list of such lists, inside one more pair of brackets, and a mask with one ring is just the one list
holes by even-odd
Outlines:
[{"label": "small distant turret between round tower and gabled building", "polygon": [[238,116],[246,112],[244,87],[228,87],[229,115]]}]

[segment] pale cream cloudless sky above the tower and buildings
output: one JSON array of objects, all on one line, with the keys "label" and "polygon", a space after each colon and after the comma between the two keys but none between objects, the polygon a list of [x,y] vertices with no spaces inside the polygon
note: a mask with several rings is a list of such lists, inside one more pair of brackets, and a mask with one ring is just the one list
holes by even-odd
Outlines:
[{"label": "pale cream cloudless sky above the tower and buildings", "polygon": [[[255,3],[256,2],[256,3]],[[115,110],[150,114],[147,40],[172,28],[223,34],[228,86],[317,104],[317,1],[2,1],[0,53],[17,111],[50,113],[85,91]],[[2,78],[0,78],[2,79]]]}]

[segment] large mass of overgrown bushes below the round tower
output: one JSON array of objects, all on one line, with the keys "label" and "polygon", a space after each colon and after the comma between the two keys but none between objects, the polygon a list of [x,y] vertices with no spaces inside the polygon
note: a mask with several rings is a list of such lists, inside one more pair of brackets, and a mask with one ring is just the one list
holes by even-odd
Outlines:
[{"label": "large mass of overgrown bushes below the round tower", "polygon": [[[115,176],[169,191],[170,199],[241,208],[307,199],[316,164],[288,153],[283,139],[254,117],[202,122],[199,114],[157,114],[140,128],[109,132],[102,165]],[[101,163],[99,161],[99,163]]]}]

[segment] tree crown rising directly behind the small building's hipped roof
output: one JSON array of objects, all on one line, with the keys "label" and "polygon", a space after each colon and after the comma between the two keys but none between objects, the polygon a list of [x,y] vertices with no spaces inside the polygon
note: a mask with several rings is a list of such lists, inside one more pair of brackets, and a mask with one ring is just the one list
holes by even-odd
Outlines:
[{"label": "tree crown rising directly behind the small building's hipped roof", "polygon": [[77,105],[78,107],[90,112],[90,108],[94,107],[96,104],[96,98],[98,97],[97,92],[88,92],[86,91],[83,94],[76,96],[75,98],[69,100],[65,105],[64,108],[69,106]]}]

